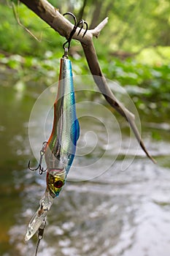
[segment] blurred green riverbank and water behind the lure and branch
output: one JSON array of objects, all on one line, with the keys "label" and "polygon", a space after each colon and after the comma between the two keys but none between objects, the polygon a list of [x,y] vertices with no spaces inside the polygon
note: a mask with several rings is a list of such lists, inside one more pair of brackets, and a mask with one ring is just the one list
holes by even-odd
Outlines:
[{"label": "blurred green riverbank and water behind the lure and branch", "polygon": [[[72,41],[74,86],[86,89],[76,92],[77,101],[103,108],[77,106],[79,145],[86,154],[75,157],[69,181],[49,213],[39,256],[169,256],[170,2],[50,3],[61,13],[83,18],[90,29],[109,17],[93,39],[98,60],[114,94],[127,107],[134,102],[142,138],[157,165],[137,148],[128,124],[96,92],[81,45]],[[41,126],[45,111],[53,107],[50,86],[58,81],[65,39],[17,1],[14,11],[11,1],[1,0],[0,15],[0,255],[31,256],[36,236],[28,243],[23,238],[45,190],[45,175],[27,166],[29,159],[37,164],[34,151],[39,156]],[[126,93],[115,91],[119,86]],[[36,115],[30,119],[34,103],[47,89],[48,96],[39,100],[40,108],[34,108]],[[47,129],[50,133],[51,121]]]}]

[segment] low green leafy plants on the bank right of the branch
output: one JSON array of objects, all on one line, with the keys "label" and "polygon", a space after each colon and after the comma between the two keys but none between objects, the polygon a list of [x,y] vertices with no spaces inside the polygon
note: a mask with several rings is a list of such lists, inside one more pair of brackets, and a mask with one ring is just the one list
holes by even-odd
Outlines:
[{"label": "low green leafy plants on the bank right of the branch", "polygon": [[102,64],[107,78],[124,86],[141,110],[169,113],[170,65],[147,65],[131,59]]}]

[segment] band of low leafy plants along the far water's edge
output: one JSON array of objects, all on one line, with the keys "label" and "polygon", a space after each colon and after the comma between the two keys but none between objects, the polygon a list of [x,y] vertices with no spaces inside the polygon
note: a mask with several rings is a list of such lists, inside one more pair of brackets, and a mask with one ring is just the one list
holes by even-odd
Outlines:
[{"label": "band of low leafy plants along the far water's edge", "polygon": [[[51,51],[47,51],[41,60],[34,56],[5,57],[1,54],[0,63],[15,69],[17,71],[15,79],[20,83],[22,81],[27,86],[37,86],[37,84],[50,86],[58,79],[56,67],[59,67],[60,58],[61,53],[54,54]],[[107,60],[101,61],[101,68],[106,78],[116,80],[120,86],[125,87],[137,108],[142,111],[151,110],[156,115],[169,113],[170,65],[149,66],[131,59],[126,61],[114,59],[109,64]],[[84,58],[74,60],[73,72],[74,75],[89,74]],[[17,86],[20,83],[17,82]],[[86,96],[90,97],[90,95]]]}]

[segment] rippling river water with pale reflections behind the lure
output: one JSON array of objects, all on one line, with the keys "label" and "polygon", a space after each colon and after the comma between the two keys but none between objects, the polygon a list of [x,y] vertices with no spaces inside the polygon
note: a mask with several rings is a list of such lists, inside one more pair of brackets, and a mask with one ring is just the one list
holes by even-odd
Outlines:
[{"label": "rippling river water with pale reflections behind the lure", "polygon": [[[0,88],[2,256],[34,255],[36,237],[27,244],[23,242],[26,224],[45,189],[45,175],[39,176],[26,169],[31,156],[28,118],[34,95],[35,92],[30,90],[18,95],[18,91],[11,87]],[[91,121],[90,117],[81,120],[80,157],[75,159],[69,181],[51,208],[39,256],[169,256],[170,148],[167,129],[164,129],[164,124],[152,125],[152,121],[146,125],[144,133],[147,146],[159,165],[153,165],[142,151],[138,151],[138,157],[131,163],[132,147],[124,160],[124,165],[129,167],[123,171],[123,156],[129,142],[123,133],[120,146],[120,135],[113,132],[103,161],[93,167],[90,160],[100,158],[107,145],[104,134],[107,116],[102,116],[102,111],[100,114],[103,123]],[[85,145],[88,124],[90,130],[98,135],[98,140],[97,148],[87,157],[83,156],[81,148]],[[159,129],[161,140],[151,139],[151,127],[154,132]],[[93,138],[92,133],[88,136]],[[120,155],[113,161],[117,157],[117,146],[120,147]],[[36,148],[39,150],[39,146]],[[84,169],[79,170],[82,165]],[[109,166],[107,170],[100,172],[106,166]]]}]

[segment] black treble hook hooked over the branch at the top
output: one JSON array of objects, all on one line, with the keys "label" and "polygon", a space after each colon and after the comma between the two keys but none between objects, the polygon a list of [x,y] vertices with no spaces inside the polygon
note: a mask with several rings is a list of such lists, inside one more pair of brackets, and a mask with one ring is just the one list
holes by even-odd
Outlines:
[{"label": "black treble hook hooked over the branch at the top", "polygon": [[64,49],[64,50],[66,50],[66,48],[65,48],[66,44],[68,44],[68,48],[67,48],[67,49],[70,48],[70,43],[71,43],[71,41],[72,41],[72,37],[74,36],[74,34],[75,34],[75,32],[76,32],[78,26],[80,26],[80,24],[81,24],[81,28],[80,28],[80,31],[78,32],[77,36],[78,36],[78,35],[80,34],[80,32],[82,31],[82,28],[83,28],[84,24],[85,24],[85,26],[86,26],[86,29],[85,29],[85,32],[84,32],[84,34],[82,35],[82,37],[85,37],[85,34],[86,34],[86,32],[88,31],[88,23],[87,23],[85,20],[80,20],[80,21],[77,22],[77,18],[76,18],[76,16],[75,16],[72,12],[66,12],[66,13],[63,14],[63,16],[65,16],[65,15],[71,15],[71,16],[74,18],[74,27],[73,27],[73,29],[72,29],[72,31],[71,31],[71,33],[70,33],[69,38],[67,39],[67,41],[63,43],[63,49]]}]

